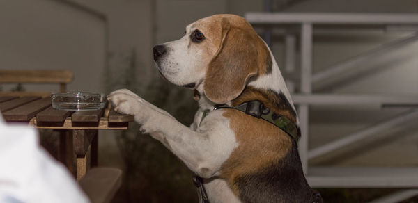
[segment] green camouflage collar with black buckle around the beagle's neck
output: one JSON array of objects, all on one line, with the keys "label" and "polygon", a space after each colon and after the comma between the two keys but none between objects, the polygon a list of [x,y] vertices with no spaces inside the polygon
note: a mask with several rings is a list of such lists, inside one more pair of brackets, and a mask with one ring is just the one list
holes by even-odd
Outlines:
[{"label": "green camouflage collar with black buckle around the beagle's neck", "polygon": [[[282,131],[286,132],[288,136],[291,137],[291,139],[297,147],[297,141],[299,140],[300,136],[298,135],[296,124],[291,122],[291,120],[288,120],[287,117],[284,117],[283,115],[278,115],[277,113],[270,111],[269,108],[265,108],[264,104],[261,103],[261,101],[247,101],[238,106],[233,107],[227,106],[226,104],[215,105],[213,110],[217,110],[219,108],[234,108],[248,115],[252,115],[258,119],[263,119],[267,122],[270,122]],[[203,118],[205,118],[206,115],[210,113],[210,111],[210,109],[206,109],[205,111],[203,111],[201,122],[203,121]]]}]

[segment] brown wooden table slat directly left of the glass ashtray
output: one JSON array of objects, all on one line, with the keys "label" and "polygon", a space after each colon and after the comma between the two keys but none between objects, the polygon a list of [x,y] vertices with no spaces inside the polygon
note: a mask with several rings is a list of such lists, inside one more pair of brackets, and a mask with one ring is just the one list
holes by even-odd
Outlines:
[{"label": "brown wooden table slat directly left of the glass ashtray", "polygon": [[[12,100],[13,101],[13,100]],[[36,113],[51,106],[51,98],[38,99],[3,113],[6,121],[29,121]]]}]

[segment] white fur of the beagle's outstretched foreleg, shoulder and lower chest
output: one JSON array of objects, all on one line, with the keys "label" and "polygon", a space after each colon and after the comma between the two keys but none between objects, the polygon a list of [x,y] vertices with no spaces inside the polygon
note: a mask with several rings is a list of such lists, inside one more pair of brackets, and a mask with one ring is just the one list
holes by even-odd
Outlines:
[{"label": "white fur of the beagle's outstretched foreleg, shoulder and lower chest", "polygon": [[[200,88],[200,86],[199,86]],[[141,131],[160,140],[167,149],[176,154],[187,167],[203,178],[219,175],[219,170],[238,147],[235,133],[229,128],[229,119],[223,111],[212,111],[202,121],[206,108],[199,108],[190,128],[175,120],[169,113],[148,103],[130,90],[111,92],[109,101],[120,113],[133,114],[134,120],[142,124]],[[202,96],[199,103],[207,106]],[[210,202],[240,202],[222,179],[205,183]]]}]

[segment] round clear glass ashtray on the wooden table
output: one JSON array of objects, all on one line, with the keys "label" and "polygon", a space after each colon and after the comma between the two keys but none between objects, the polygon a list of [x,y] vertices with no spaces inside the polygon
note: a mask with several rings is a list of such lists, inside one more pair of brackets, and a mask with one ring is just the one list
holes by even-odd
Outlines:
[{"label": "round clear glass ashtray on the wooden table", "polygon": [[51,95],[52,108],[65,111],[93,111],[104,108],[103,94],[94,92],[57,92]]}]

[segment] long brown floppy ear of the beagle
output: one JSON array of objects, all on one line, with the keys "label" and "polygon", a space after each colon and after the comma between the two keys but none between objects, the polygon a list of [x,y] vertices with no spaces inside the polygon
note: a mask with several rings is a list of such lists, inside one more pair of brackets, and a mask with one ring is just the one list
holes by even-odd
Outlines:
[{"label": "long brown floppy ear of the beagle", "polygon": [[206,97],[216,104],[225,104],[238,97],[248,80],[258,75],[258,59],[265,60],[260,55],[265,56],[268,52],[264,42],[247,22],[246,26],[233,26],[228,19],[222,19],[221,24],[221,44],[209,63],[203,85]]}]

